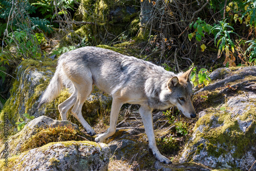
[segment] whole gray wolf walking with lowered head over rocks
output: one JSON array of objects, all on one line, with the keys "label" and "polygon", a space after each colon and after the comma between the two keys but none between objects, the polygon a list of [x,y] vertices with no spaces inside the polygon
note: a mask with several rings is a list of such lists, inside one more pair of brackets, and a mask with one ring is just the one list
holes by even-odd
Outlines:
[{"label": "whole gray wolf walking with lowered head over rocks", "polygon": [[95,135],[92,127],[82,117],[82,105],[94,85],[112,95],[110,127],[95,138],[96,142],[103,142],[115,133],[118,114],[124,103],[140,104],[139,113],[153,154],[160,162],[171,163],[160,154],[156,146],[152,111],[176,105],[186,117],[196,117],[191,101],[191,70],[176,75],[132,56],[96,47],[83,47],[59,57],[56,72],[42,95],[40,104],[53,100],[63,86],[71,85],[73,93],[58,105],[61,119],[67,120],[67,112],[73,106],[71,113],[88,134]]}]

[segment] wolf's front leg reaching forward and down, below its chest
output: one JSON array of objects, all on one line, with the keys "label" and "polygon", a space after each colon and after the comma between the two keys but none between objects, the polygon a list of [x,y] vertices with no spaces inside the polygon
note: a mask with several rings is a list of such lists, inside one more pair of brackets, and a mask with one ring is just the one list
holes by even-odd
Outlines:
[{"label": "wolf's front leg reaching forward and down, below its chest", "polygon": [[148,106],[141,106],[139,109],[139,113],[142,118],[146,135],[148,138],[148,145],[152,149],[152,152],[154,156],[157,158],[157,160],[159,160],[162,163],[172,164],[172,162],[169,161],[169,159],[167,159],[166,157],[160,154],[157,148],[156,138],[155,138],[154,129],[153,129],[152,111],[153,109],[150,109]]}]

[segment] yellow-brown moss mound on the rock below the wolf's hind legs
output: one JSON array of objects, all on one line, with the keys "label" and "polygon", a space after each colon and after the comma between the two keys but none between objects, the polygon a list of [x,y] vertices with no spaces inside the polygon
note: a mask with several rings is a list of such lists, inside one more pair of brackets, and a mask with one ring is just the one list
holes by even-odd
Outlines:
[{"label": "yellow-brown moss mound on the rock below the wolf's hind legs", "polygon": [[39,128],[37,133],[22,145],[20,151],[24,152],[28,149],[40,147],[50,142],[84,140],[80,136],[84,135],[80,131],[74,129],[71,125],[48,127],[47,129]]}]

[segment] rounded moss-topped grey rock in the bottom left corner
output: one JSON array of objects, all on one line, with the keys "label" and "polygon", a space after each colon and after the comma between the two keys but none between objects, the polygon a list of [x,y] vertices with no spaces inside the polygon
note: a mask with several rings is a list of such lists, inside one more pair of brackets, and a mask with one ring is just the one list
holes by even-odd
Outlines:
[{"label": "rounded moss-topped grey rock in the bottom left corner", "polygon": [[104,143],[49,143],[19,156],[0,160],[0,170],[108,170],[110,148]]}]

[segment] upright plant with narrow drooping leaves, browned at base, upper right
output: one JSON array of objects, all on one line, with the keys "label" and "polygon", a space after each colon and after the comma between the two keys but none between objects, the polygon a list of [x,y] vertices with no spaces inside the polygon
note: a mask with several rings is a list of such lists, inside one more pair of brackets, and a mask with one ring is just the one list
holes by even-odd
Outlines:
[{"label": "upright plant with narrow drooping leaves, browned at base, upper right", "polygon": [[[228,31],[228,28],[230,28],[231,30]],[[223,65],[227,67],[232,67],[232,66],[236,67],[236,64],[234,63],[236,58],[233,56],[234,43],[230,38],[230,34],[234,33],[233,30],[234,28],[229,26],[228,23],[226,23],[226,19],[224,21],[220,21],[219,24],[212,27],[211,29],[211,32],[214,33],[215,35],[215,38],[214,38],[215,45],[216,45],[216,40],[219,39],[216,45],[216,47],[219,48],[218,58],[221,57],[222,52],[225,50],[226,59],[223,62]],[[234,34],[237,34],[237,33],[234,33]],[[231,49],[231,51],[229,49]]]}]

